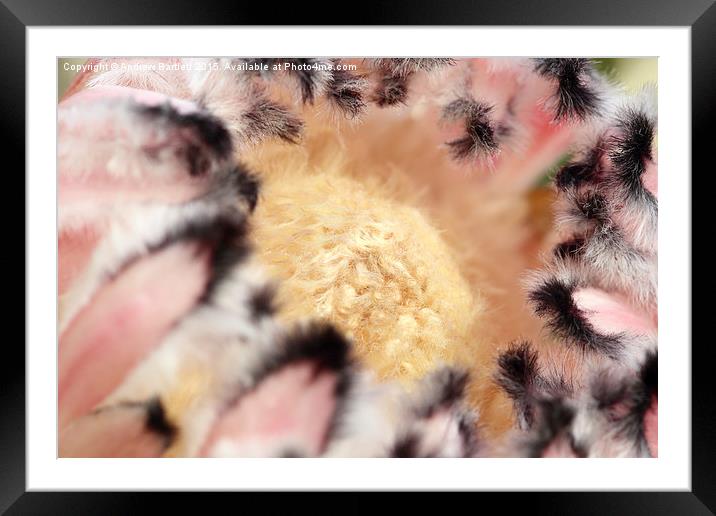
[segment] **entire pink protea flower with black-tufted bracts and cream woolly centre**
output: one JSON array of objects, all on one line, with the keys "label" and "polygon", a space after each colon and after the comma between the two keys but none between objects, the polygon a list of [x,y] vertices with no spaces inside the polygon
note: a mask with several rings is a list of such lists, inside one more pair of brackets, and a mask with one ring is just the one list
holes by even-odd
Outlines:
[{"label": "entire pink protea flower with black-tufted bracts and cream woolly centre", "polygon": [[61,455],[656,455],[653,91],[588,59],[88,65]]}]

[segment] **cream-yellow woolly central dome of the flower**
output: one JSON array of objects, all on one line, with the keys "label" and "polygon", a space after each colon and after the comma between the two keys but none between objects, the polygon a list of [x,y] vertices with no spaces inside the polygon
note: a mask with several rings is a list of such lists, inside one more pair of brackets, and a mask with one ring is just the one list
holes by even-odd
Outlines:
[{"label": "cream-yellow woolly central dome of the flower", "polygon": [[282,316],[335,323],[381,378],[468,364],[482,302],[438,229],[370,175],[349,177],[338,140],[324,134],[312,144],[245,156],[261,171],[252,235],[278,280]]}]

